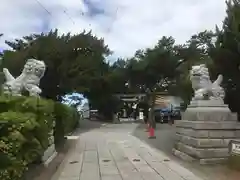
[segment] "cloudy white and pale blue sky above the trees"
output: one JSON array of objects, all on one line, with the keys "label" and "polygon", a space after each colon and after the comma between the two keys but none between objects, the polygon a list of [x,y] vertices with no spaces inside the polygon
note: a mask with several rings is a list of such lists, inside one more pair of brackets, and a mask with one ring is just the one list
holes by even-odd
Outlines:
[{"label": "cloudy white and pale blue sky above the trees", "polygon": [[1,0],[0,50],[5,40],[31,33],[86,29],[105,39],[114,58],[131,57],[164,35],[184,43],[221,27],[225,8],[225,0]]}]

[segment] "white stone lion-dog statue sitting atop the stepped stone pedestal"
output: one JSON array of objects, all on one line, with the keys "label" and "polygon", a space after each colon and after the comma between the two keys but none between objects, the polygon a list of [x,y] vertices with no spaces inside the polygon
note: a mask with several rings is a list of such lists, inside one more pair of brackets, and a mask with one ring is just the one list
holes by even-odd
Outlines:
[{"label": "white stone lion-dog statue sitting atop the stepped stone pedestal", "polygon": [[220,86],[223,81],[223,76],[218,75],[217,80],[212,82],[205,64],[192,66],[190,70],[190,80],[194,90],[193,100],[223,101],[225,92]]}]

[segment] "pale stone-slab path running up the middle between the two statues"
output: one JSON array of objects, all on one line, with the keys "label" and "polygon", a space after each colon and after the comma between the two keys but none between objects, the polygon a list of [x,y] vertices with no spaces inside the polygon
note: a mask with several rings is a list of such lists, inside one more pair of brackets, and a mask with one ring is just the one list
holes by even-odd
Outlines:
[{"label": "pale stone-slab path running up the middle between the two statues", "polygon": [[131,135],[99,128],[79,135],[52,180],[202,180]]}]

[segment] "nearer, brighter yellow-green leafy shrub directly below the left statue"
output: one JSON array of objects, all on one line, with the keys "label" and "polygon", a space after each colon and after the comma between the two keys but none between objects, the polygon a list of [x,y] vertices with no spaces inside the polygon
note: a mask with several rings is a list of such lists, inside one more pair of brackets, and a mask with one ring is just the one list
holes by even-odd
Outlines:
[{"label": "nearer, brighter yellow-green leafy shrub directly below the left statue", "polygon": [[0,97],[0,105],[7,107],[0,113],[0,151],[5,161],[0,171],[1,180],[20,179],[27,166],[39,161],[47,148],[52,113],[45,100],[39,100],[39,104],[41,106],[36,107],[36,98]]}]

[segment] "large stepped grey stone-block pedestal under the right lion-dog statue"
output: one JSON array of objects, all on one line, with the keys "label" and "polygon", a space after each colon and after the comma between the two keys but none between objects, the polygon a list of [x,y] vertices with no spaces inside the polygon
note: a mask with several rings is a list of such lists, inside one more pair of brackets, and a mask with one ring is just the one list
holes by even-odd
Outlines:
[{"label": "large stepped grey stone-block pedestal under the right lion-dog statue", "polygon": [[176,123],[173,153],[200,164],[222,163],[229,156],[229,142],[240,139],[237,114],[218,100],[192,101]]}]

